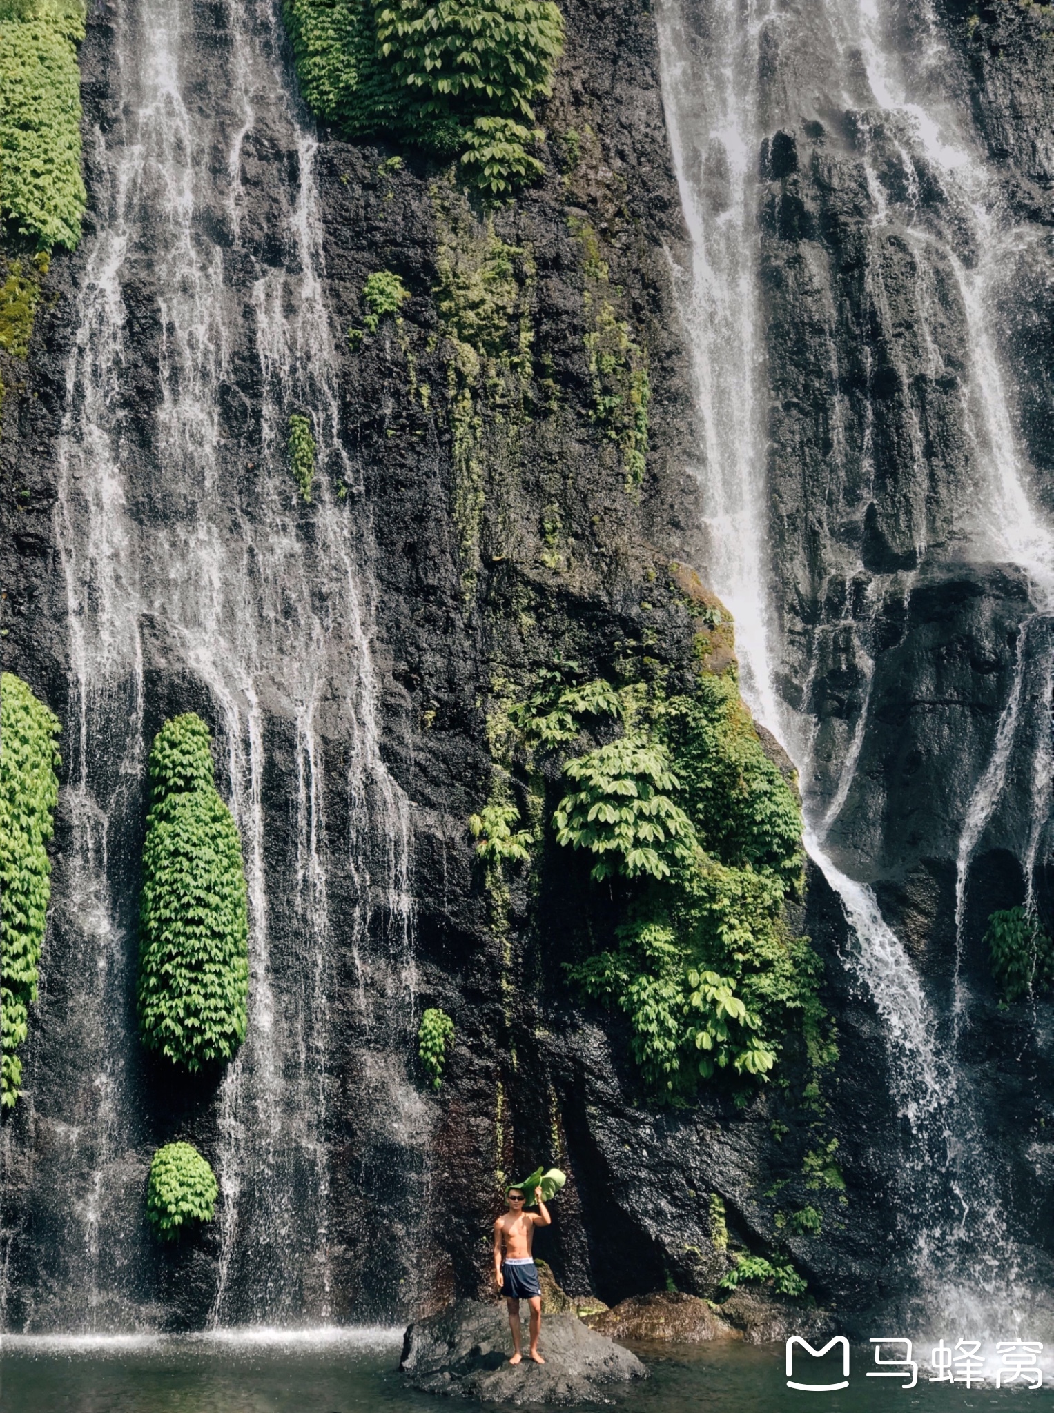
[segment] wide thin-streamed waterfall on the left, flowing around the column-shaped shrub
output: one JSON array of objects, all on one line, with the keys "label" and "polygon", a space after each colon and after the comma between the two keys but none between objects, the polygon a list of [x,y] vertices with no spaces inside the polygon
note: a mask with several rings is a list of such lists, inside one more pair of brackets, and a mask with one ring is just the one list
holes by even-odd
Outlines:
[{"label": "wide thin-streamed waterfall on the left, flowing around the column-shaped shrub", "polygon": [[[119,0],[105,40],[58,448],[68,784],[24,1101],[37,1249],[8,1259],[16,1234],[6,1252],[7,1286],[35,1263],[47,1293],[13,1317],[32,1330],[157,1320],[172,1276],[143,1219],[146,1169],[195,1123],[222,1197],[211,1296],[186,1318],[365,1320],[415,1294],[407,1251],[346,1219],[335,1234],[335,1135],[342,1201],[393,1231],[413,1221],[430,1135],[408,1070],[408,807],[380,756],[316,143],[277,10]],[[314,428],[311,504],[285,465],[291,413]],[[213,726],[249,880],[249,1036],[218,1096],[160,1078],[136,1037],[146,755],[188,709]]]}]

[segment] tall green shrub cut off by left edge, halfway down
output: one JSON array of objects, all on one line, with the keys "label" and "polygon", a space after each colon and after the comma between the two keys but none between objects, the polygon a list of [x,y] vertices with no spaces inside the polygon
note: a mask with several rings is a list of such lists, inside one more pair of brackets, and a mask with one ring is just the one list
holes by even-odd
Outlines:
[{"label": "tall green shrub cut off by left edge, halfway down", "polygon": [[0,1105],[13,1108],[21,1088],[18,1047],[37,999],[51,863],[47,842],[58,803],[59,725],[13,673],[0,677]]}]

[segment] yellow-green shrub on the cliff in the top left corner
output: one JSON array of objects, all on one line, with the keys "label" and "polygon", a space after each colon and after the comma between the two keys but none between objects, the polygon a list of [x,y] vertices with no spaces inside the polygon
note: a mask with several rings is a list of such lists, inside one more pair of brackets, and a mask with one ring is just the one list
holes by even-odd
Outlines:
[{"label": "yellow-green shrub on the cliff in the top left corner", "polygon": [[0,0],[0,220],[42,249],[81,239],[79,0]]}]

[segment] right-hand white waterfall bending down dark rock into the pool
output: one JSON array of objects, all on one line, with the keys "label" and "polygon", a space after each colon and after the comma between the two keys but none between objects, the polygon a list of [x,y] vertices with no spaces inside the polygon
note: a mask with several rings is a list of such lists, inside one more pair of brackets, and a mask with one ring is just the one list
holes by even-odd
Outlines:
[{"label": "right-hand white waterfall bending down dark rock into the pool", "polygon": [[[875,893],[851,877],[853,862],[866,868],[869,861],[845,858],[835,863],[829,853],[828,838],[855,783],[869,723],[875,651],[858,625],[869,616],[873,620],[875,609],[866,613],[858,609],[855,617],[831,629],[845,643],[838,651],[853,666],[863,690],[855,725],[838,738],[838,749],[827,747],[821,759],[819,723],[808,708],[819,639],[814,634],[811,651],[803,654],[800,644],[791,651],[773,602],[770,586],[780,571],[771,545],[763,428],[759,225],[763,140],[767,144],[780,129],[794,131],[804,119],[819,129],[814,120],[817,112],[825,122],[832,112],[843,113],[846,126],[858,134],[862,178],[872,203],[865,290],[880,324],[890,319],[879,246],[889,223],[896,222],[908,249],[932,246],[942,268],[952,271],[969,359],[961,425],[975,468],[973,483],[961,490],[952,538],[965,544],[966,555],[973,560],[1023,571],[1036,608],[1031,622],[1046,623],[1054,608],[1054,534],[1031,503],[993,331],[1000,249],[1007,240],[1022,237],[1002,232],[995,184],[944,97],[941,82],[949,58],[927,4],[900,8],[897,0],[849,4],[821,0],[803,7],[797,0],[702,0],[687,6],[664,0],[658,31],[664,106],[691,237],[692,264],[684,276],[682,307],[701,422],[698,475],[708,531],[706,572],[736,617],[742,685],[754,716],[780,736],[798,766],[807,846],[841,897],[856,938],[848,958],[851,969],[875,1003],[887,1034],[890,1087],[910,1135],[899,1205],[904,1210],[904,1228],[910,1225],[901,1235],[920,1291],[916,1317],[924,1324],[944,1320],[945,1331],[954,1328],[964,1337],[1005,1338],[1022,1318],[1019,1252],[1009,1235],[969,1084],[957,1060],[957,1033],[944,1034],[940,1013],[884,921]],[[808,109],[812,102],[817,107]],[[808,112],[803,113],[803,106]],[[896,179],[890,177],[893,164]],[[947,229],[934,229],[921,216],[920,171],[930,184],[940,184],[951,212]],[[969,257],[964,246],[969,247]],[[937,314],[930,312],[935,304],[935,276],[923,256],[916,259],[914,271],[920,362],[930,376],[944,374]],[[815,271],[812,278],[818,278]],[[834,367],[831,384],[838,389],[842,377],[831,329],[824,336]],[[870,367],[870,349],[865,348],[862,356]],[[815,534],[828,541],[838,538],[831,527],[838,528],[838,497],[846,483],[851,441],[845,397],[832,391],[829,406],[828,465],[841,482],[829,480],[828,500],[810,507],[821,521]],[[890,593],[901,598],[907,612],[917,569],[941,551],[928,548],[935,538],[928,499],[916,489],[927,483],[927,458],[911,407],[904,413],[901,432],[914,473],[913,486],[901,496],[901,512],[917,568],[890,575]],[[876,465],[870,401],[858,445],[866,486]],[[853,574],[868,578],[859,558],[855,564],[846,560],[842,572],[846,579]],[[961,825],[959,935],[971,858],[1005,788],[1007,756],[1020,736],[1019,704],[1030,660],[1026,640],[1034,632],[1029,623],[1022,627],[1016,673],[992,756]],[[1048,682],[1048,653],[1038,656],[1038,671]],[[804,688],[801,675],[795,682],[795,673],[804,675]],[[1036,745],[1029,753],[1030,870],[1041,844],[1041,815],[1050,801],[1044,773],[1050,762],[1050,695],[1043,699],[1047,706],[1040,715],[1046,726],[1034,731]]]}]

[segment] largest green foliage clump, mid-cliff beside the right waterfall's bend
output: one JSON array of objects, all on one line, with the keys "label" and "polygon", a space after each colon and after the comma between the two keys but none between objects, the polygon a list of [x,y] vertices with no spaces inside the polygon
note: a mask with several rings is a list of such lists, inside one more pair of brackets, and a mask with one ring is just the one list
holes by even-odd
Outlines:
[{"label": "largest green foliage clump, mid-cliff beside the right waterfall's bend", "polygon": [[678,692],[661,678],[619,687],[576,673],[543,670],[504,708],[516,746],[504,743],[506,764],[495,770],[500,812],[489,828],[475,817],[473,832],[495,858],[526,861],[543,831],[523,827],[513,756],[526,766],[528,797],[544,794],[531,780],[562,779],[551,838],[592,858],[592,885],[616,889],[620,913],[613,945],[589,924],[588,955],[565,964],[567,974],[626,1016],[630,1051],[654,1092],[684,1101],[721,1078],[746,1102],[791,1039],[811,1070],[829,1064],[836,1050],[819,961],[786,921],[803,882],[801,815],[764,755],[735,668],[699,673]]}]

